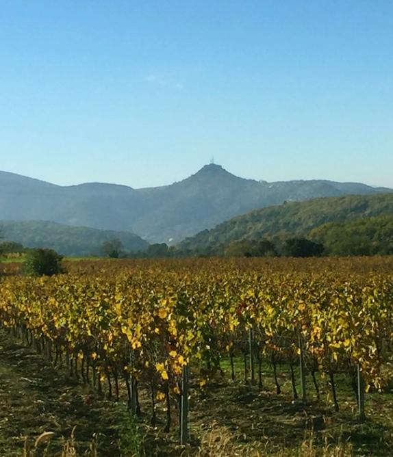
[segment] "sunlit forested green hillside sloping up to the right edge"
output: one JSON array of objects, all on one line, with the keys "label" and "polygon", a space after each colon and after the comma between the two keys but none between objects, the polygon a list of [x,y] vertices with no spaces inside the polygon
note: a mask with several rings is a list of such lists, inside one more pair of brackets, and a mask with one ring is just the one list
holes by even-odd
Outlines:
[{"label": "sunlit forested green hillside sloping up to the right edge", "polygon": [[[364,231],[375,232],[377,224],[381,222],[372,219],[375,216],[393,216],[393,194],[316,198],[305,202],[284,203],[251,211],[223,222],[212,230],[202,231],[178,244],[177,251],[215,254],[220,246],[228,246],[231,242],[242,239],[285,239],[302,236],[326,242],[328,239],[331,240],[334,234],[338,235],[337,231],[340,231],[338,223],[345,223],[348,231],[356,229],[362,231],[362,223],[355,224],[355,220],[362,218],[370,218],[368,224],[363,225]],[[351,221],[354,224],[349,224]],[[328,222],[336,225],[324,226]],[[393,233],[390,231],[392,226],[389,225],[388,220],[383,222],[388,231],[385,234],[386,239],[392,242]],[[371,226],[374,229],[371,229]],[[317,227],[318,230],[316,230]],[[367,237],[366,233],[362,236],[364,239]]]}]

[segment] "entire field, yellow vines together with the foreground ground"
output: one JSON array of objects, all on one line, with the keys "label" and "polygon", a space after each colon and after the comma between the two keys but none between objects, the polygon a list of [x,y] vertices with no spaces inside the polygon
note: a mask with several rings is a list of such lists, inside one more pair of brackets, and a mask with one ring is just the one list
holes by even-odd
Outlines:
[{"label": "entire field, yellow vines together with the foreground ground", "polygon": [[389,456],[392,267],[5,264],[0,455]]}]

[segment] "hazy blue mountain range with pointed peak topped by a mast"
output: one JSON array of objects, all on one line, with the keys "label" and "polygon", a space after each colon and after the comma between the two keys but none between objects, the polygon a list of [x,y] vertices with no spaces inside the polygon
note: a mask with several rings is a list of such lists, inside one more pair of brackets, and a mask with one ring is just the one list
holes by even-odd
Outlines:
[{"label": "hazy blue mountain range with pointed peak topped by a mast", "polygon": [[174,244],[252,209],[322,196],[393,192],[359,183],[242,179],[206,165],[183,181],[133,189],[86,183],[62,187],[0,172],[0,220],[50,220],[97,229],[130,231]]}]

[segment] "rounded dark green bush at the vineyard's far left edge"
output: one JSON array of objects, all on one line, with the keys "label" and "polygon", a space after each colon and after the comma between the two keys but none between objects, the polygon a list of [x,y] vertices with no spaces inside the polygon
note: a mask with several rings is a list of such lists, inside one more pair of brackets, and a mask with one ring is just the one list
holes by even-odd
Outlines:
[{"label": "rounded dark green bush at the vineyard's far left edge", "polygon": [[63,257],[53,249],[31,249],[27,252],[25,273],[31,276],[52,276],[64,273]]}]

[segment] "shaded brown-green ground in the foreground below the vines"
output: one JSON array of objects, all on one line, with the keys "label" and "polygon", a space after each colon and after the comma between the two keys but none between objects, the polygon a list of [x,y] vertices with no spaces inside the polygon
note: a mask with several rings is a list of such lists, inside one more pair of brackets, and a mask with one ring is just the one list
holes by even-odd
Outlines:
[{"label": "shaded brown-green ground in the foreground below the vines", "polygon": [[[239,364],[240,365],[240,364]],[[223,363],[224,371],[227,371]],[[268,367],[266,367],[266,370]],[[240,367],[238,367],[241,378]],[[351,440],[355,455],[390,456],[389,437],[393,435],[392,394],[368,395],[369,419],[356,419],[353,393],[344,378],[338,376],[341,411],[333,413],[327,402],[312,399],[307,404],[292,402],[286,367],[280,371],[283,394],[273,393],[273,384],[266,374],[266,391],[249,388],[241,381],[229,382],[229,376],[217,378],[205,390],[191,389],[191,446],[178,445],[177,412],[173,411],[173,428],[164,434],[164,406],[157,407],[155,428],[140,426],[148,456],[179,456],[181,452],[198,452],[203,434],[217,428],[227,430],[231,439],[242,446],[256,443],[265,449],[263,455],[279,455],[279,449],[298,449],[313,429],[314,441],[322,446],[325,437],[332,443]],[[320,380],[322,399],[329,390]],[[140,424],[149,422],[149,401],[141,391],[142,417]],[[99,456],[129,456],[121,442],[127,435],[127,414],[112,401],[100,400],[90,387],[79,384],[54,369],[42,356],[26,348],[5,332],[0,331],[0,456],[21,456],[26,440],[45,431],[55,432],[49,445],[49,456],[59,455],[64,441],[75,428],[78,455],[88,452],[94,436],[98,436]],[[126,435],[126,436],[124,436]],[[242,455],[242,454],[239,454]]]}]

